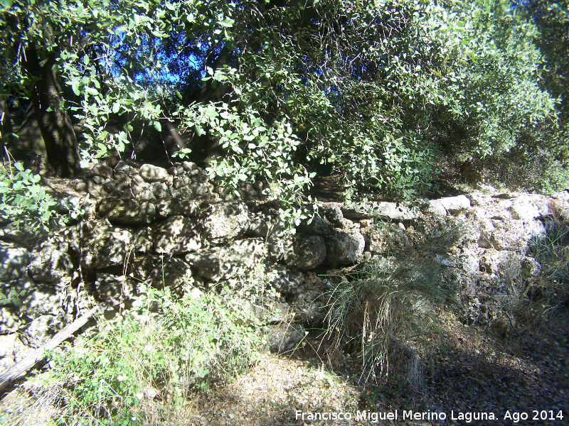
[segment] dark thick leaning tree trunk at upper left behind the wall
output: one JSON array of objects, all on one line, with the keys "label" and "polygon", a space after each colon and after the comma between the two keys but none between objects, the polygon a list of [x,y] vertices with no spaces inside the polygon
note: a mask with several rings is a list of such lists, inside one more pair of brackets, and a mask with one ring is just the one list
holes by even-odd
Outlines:
[{"label": "dark thick leaning tree trunk at upper left behind the wall", "polygon": [[55,55],[40,60],[36,48],[29,47],[22,65],[33,84],[30,99],[46,143],[48,163],[57,175],[73,176],[80,170],[80,158],[73,124],[67,111],[60,107],[61,86]]}]

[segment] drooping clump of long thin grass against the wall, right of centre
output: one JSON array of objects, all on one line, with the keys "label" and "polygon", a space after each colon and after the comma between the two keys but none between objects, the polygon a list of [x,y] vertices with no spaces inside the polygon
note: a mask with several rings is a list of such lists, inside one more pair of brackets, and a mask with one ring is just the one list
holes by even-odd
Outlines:
[{"label": "drooping clump of long thin grass against the wall, right of centre", "polygon": [[440,264],[412,251],[376,258],[329,292],[326,337],[361,360],[360,382],[395,372],[420,385],[419,358],[437,333],[437,314],[454,300]]}]

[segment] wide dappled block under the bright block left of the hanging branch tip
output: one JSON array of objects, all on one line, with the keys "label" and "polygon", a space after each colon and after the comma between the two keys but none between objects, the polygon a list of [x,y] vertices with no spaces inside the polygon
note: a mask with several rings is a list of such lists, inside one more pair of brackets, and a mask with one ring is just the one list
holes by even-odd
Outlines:
[{"label": "wide dappled block under the bright block left of the hanging branch tip", "polygon": [[257,238],[235,241],[228,247],[213,247],[186,255],[197,275],[217,283],[243,275],[267,257],[265,241]]}]

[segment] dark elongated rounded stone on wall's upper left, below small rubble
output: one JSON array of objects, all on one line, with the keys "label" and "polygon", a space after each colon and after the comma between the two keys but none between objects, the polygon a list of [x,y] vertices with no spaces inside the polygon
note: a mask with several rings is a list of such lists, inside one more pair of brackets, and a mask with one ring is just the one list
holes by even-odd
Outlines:
[{"label": "dark elongated rounded stone on wall's upper left, below small rubble", "polygon": [[97,202],[97,214],[112,224],[144,225],[156,218],[156,206],[151,202],[103,198]]}]

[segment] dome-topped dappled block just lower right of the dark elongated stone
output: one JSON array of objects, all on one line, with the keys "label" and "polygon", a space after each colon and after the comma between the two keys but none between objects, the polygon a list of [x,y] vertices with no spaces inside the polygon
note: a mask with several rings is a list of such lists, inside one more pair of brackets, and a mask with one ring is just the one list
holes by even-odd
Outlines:
[{"label": "dome-topped dappled block just lower right of the dark elongated stone", "polygon": [[156,229],[154,251],[181,254],[201,249],[201,236],[194,227],[194,222],[188,217],[169,217]]}]

